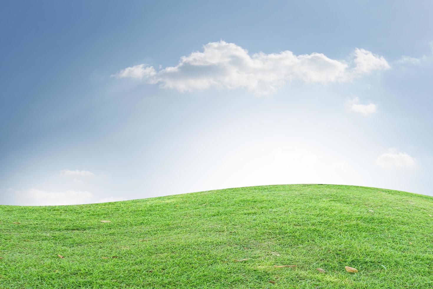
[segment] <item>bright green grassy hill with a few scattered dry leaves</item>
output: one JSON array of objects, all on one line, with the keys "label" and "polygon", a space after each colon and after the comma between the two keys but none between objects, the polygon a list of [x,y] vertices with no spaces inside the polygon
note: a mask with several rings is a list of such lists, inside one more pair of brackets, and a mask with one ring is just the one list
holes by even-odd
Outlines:
[{"label": "bright green grassy hill with a few scattered dry leaves", "polygon": [[432,197],[345,185],[0,206],[0,288],[433,288],[429,214]]}]

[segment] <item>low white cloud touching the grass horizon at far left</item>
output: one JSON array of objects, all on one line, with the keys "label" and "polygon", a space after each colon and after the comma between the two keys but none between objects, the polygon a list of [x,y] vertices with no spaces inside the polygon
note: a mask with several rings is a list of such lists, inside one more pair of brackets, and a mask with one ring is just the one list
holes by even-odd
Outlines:
[{"label": "low white cloud touching the grass horizon at far left", "polygon": [[35,188],[16,194],[23,200],[22,205],[33,206],[88,204],[93,198],[87,191],[46,192]]}]

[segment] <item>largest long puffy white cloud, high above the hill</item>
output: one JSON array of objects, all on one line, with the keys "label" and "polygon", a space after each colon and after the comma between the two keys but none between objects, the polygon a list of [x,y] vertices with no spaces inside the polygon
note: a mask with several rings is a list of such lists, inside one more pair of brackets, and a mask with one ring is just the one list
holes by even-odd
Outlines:
[{"label": "largest long puffy white cloud, high above the hill", "polygon": [[349,61],[331,59],[322,53],[294,55],[291,51],[252,56],[246,49],[224,41],[204,45],[203,52],[182,56],[178,65],[158,71],[140,64],[112,75],[137,78],[149,84],[178,91],[216,88],[243,88],[254,94],[275,92],[283,84],[298,79],[307,83],[327,84],[351,81],[375,70],[390,68],[383,56],[365,49],[355,49]]}]

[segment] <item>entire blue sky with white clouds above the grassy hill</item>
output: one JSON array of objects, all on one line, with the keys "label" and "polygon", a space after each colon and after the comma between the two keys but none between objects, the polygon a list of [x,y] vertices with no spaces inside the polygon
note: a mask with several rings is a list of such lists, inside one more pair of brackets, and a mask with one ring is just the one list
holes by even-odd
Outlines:
[{"label": "entire blue sky with white clouds above the grassy hill", "polygon": [[430,1],[0,9],[0,203],[334,183],[433,195]]}]

